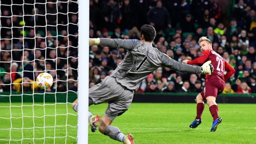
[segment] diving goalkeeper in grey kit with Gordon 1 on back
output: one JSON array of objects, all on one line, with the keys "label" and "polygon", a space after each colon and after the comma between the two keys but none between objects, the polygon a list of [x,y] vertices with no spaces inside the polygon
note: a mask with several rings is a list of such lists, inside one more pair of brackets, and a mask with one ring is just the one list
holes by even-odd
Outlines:
[{"label": "diving goalkeeper in grey kit with Gordon 1 on back", "polygon": [[[161,66],[195,74],[211,74],[213,70],[210,64],[211,61],[207,61],[202,67],[199,67],[173,60],[152,46],[155,35],[156,31],[153,26],[143,25],[141,27],[141,40],[89,39],[89,46],[104,45],[124,48],[128,51],[123,61],[110,76],[107,76],[101,83],[89,89],[89,106],[108,102],[107,110],[99,123],[99,131],[124,144],[134,144],[133,135],[124,135],[117,127],[111,126],[111,123],[129,108],[134,90],[138,90],[142,80],[149,74]],[[77,111],[77,105],[76,100],[72,105],[75,111]],[[93,116],[89,111],[89,123],[92,132],[97,129],[98,122],[99,115]]]}]

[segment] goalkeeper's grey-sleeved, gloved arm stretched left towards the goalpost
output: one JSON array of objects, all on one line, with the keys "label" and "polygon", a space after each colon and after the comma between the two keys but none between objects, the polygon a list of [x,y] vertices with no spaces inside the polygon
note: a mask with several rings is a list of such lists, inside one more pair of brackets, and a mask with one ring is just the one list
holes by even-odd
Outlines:
[{"label": "goalkeeper's grey-sleeved, gloved arm stretched left towards the goalpost", "polygon": [[113,48],[124,48],[128,51],[136,47],[137,40],[133,39],[110,39],[110,38],[89,38],[89,46],[104,45]]}]

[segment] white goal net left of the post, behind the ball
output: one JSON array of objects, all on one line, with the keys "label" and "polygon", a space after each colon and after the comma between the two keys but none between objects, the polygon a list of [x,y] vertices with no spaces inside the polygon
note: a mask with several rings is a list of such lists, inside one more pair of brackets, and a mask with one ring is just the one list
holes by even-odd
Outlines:
[{"label": "white goal net left of the post, behind the ball", "polygon": [[77,0],[0,0],[0,36],[0,143],[76,143]]}]

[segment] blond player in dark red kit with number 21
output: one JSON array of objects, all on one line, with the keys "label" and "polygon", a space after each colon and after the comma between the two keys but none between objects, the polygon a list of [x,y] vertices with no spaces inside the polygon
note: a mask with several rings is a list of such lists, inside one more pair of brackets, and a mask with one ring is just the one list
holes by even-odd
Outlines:
[{"label": "blond player in dark red kit with number 21", "polygon": [[[187,64],[203,64],[205,61],[212,61],[214,67],[211,75],[206,75],[204,90],[196,97],[197,102],[197,116],[195,120],[189,125],[190,128],[196,128],[201,122],[201,116],[204,111],[204,100],[207,101],[210,113],[213,117],[213,125],[211,132],[216,131],[218,124],[222,122],[221,117],[218,116],[218,105],[215,102],[218,94],[221,94],[225,87],[225,81],[235,72],[234,68],[226,62],[218,53],[212,50],[212,42],[206,38],[201,37],[198,41],[202,54],[199,58],[192,61],[183,60]],[[226,75],[224,72],[227,71]]]}]

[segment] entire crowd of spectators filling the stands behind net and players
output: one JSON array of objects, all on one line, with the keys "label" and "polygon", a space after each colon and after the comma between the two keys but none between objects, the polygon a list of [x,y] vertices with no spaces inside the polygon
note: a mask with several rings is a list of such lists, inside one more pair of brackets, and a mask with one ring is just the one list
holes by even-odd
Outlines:
[{"label": "entire crowd of spectators filling the stands behind net and players", "polygon": [[[201,55],[197,43],[201,36],[207,36],[212,41],[212,48],[219,53],[236,72],[226,81],[223,93],[256,93],[256,0],[234,0],[232,3],[218,0],[90,0],[90,29],[89,37],[139,39],[140,27],[150,24],[156,28],[157,35],[153,46],[169,57],[182,62],[184,59],[193,60]],[[47,10],[36,5],[36,11],[29,9],[28,14],[56,13],[69,11],[77,12],[77,4],[69,2],[47,4]],[[10,16],[11,11],[2,9],[2,16]],[[22,15],[17,10],[17,15]],[[69,19],[67,19],[67,17]],[[25,25],[58,25],[26,29],[1,29],[1,38],[23,38],[2,40],[0,67],[1,71],[20,72],[22,70],[52,70],[49,71],[59,81],[49,91],[77,90],[77,14],[47,15],[27,17]],[[2,26],[23,25],[22,17],[1,17]],[[34,22],[34,20],[36,22]],[[68,26],[64,26],[65,24]],[[13,35],[12,35],[13,33]],[[15,34],[14,34],[15,33]],[[63,35],[56,39],[56,33]],[[67,36],[67,34],[71,34]],[[51,37],[52,35],[52,37]],[[35,36],[49,36],[34,38]],[[25,37],[33,39],[25,39]],[[11,45],[13,43],[13,45]],[[47,47],[47,49],[45,49]],[[50,47],[50,48],[49,48]],[[36,59],[35,62],[3,61]],[[36,49],[35,49],[36,48]],[[85,47],[87,48],[87,47]],[[30,49],[30,50],[27,50]],[[100,83],[110,75],[125,57],[127,51],[105,46],[88,48],[89,57],[89,87]],[[49,60],[59,57],[60,59]],[[71,56],[71,57],[70,57]],[[46,61],[45,58],[47,58]],[[64,59],[62,59],[64,58]],[[40,61],[42,60],[42,61]],[[67,68],[74,69],[67,69]],[[54,71],[58,69],[57,71]],[[20,78],[20,73],[0,74],[0,83],[14,82]],[[24,72],[27,78],[23,81],[34,80],[32,72]],[[205,75],[187,74],[160,67],[143,80],[138,92],[196,92],[203,90]],[[9,85],[0,90],[18,91]],[[29,89],[27,89],[29,90]]]}]

